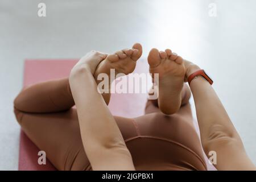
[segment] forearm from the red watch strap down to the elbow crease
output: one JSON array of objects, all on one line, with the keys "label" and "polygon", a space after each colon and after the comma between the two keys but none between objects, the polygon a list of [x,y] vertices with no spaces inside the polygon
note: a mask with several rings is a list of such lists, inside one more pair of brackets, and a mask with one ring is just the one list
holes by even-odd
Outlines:
[{"label": "forearm from the red watch strap down to the elbow crease", "polygon": [[191,81],[190,87],[203,144],[218,137],[239,138],[229,115],[209,82],[200,76]]}]

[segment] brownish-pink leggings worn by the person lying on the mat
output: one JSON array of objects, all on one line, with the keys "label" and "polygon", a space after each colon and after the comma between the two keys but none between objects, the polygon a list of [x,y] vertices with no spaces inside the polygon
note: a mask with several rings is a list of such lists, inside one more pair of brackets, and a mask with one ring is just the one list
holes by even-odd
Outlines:
[{"label": "brownish-pink leggings worn by the person lying on the mat", "polygon": [[[164,115],[157,101],[148,101],[141,117],[114,117],[135,169],[207,169],[192,123],[190,95],[185,85],[183,104],[173,115]],[[63,78],[22,90],[14,101],[14,112],[24,133],[46,152],[53,166],[59,170],[91,170],[74,104],[68,78]]]}]

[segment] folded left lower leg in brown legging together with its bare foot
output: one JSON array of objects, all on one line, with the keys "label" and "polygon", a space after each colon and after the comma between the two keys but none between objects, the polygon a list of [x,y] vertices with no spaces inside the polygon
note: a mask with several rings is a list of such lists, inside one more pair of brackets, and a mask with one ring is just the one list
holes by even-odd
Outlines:
[{"label": "folded left lower leg in brown legging together with its bare foot", "polygon": [[[141,55],[141,44],[134,44],[133,49],[123,49],[113,55],[109,55],[98,65],[94,73],[96,81],[100,82],[97,79],[100,73],[110,75],[110,69],[115,69],[116,74],[133,72],[136,61]],[[110,81],[109,84],[111,84]],[[103,93],[102,96],[106,104],[108,104],[110,92]],[[16,109],[28,113],[53,113],[68,110],[73,105],[75,105],[75,102],[73,101],[68,78],[32,85],[20,92],[14,101]]]}]

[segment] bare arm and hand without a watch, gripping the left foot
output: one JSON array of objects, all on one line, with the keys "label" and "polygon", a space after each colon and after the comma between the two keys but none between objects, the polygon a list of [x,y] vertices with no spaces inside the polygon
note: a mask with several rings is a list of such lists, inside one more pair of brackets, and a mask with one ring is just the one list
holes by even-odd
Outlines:
[{"label": "bare arm and hand without a watch, gripping the left foot", "polygon": [[117,123],[97,91],[93,77],[97,64],[88,64],[90,60],[92,57],[82,58],[69,77],[86,155],[94,170],[134,170]]}]

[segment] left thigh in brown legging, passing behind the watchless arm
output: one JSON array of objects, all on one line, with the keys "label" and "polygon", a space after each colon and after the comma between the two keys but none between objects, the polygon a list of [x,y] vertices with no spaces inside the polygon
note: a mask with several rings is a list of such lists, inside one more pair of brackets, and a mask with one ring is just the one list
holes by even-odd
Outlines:
[{"label": "left thigh in brown legging, passing behind the watchless arm", "polygon": [[[40,150],[46,152],[47,158],[57,169],[92,169],[82,145],[76,109],[48,114],[15,110],[15,114],[24,133]],[[132,119],[114,118],[124,139],[136,135]]]}]

